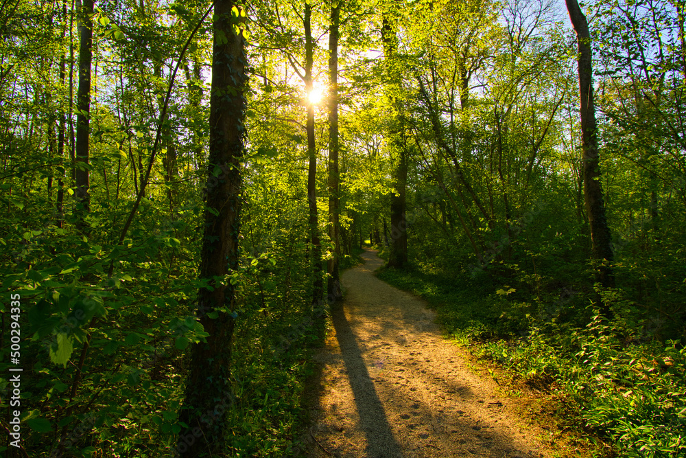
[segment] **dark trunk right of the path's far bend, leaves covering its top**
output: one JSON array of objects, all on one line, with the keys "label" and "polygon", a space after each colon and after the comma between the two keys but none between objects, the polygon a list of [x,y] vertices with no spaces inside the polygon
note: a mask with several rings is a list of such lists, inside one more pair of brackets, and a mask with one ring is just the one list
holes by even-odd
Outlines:
[{"label": "dark trunk right of the path's far bend, leaves covering its top", "polygon": [[[406,183],[407,183],[407,154],[403,139],[403,126],[399,104],[401,79],[397,71],[396,55],[398,39],[391,14],[383,15],[381,25],[381,41],[386,61],[386,78],[388,78],[388,102],[391,107],[390,128],[388,130],[390,157],[393,161],[393,185],[395,192],[390,196],[390,253],[388,266],[401,268],[407,262],[407,220],[406,211]],[[384,233],[386,220],[384,222]]]}]

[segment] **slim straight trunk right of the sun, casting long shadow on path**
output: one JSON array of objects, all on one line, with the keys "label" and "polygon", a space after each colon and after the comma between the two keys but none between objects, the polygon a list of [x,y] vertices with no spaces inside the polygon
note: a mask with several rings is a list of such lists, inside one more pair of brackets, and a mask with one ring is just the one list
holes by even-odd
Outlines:
[{"label": "slim straight trunk right of the sun, casting long shadow on path", "polygon": [[334,244],[333,257],[329,260],[329,279],[327,295],[333,301],[341,297],[339,237],[339,190],[338,175],[338,26],[340,22],[340,3],[331,7],[331,29],[329,30],[329,238]]}]

